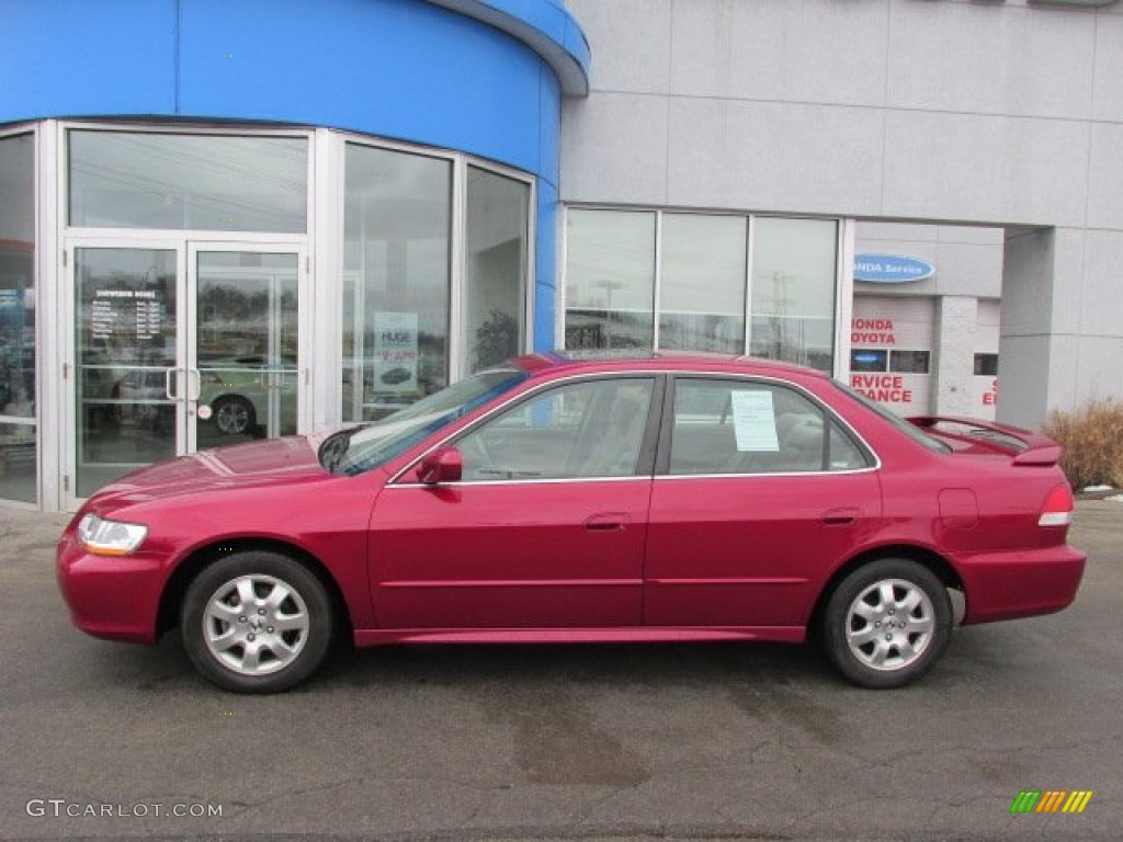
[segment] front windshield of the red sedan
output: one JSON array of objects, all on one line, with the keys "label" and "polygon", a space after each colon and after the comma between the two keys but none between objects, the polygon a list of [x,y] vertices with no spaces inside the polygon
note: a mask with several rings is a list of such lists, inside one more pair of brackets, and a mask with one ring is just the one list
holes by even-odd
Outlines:
[{"label": "front windshield of the red sedan", "polygon": [[320,465],[332,474],[348,476],[376,468],[446,424],[514,388],[528,376],[521,368],[492,368],[373,424],[340,430],[320,446]]}]

